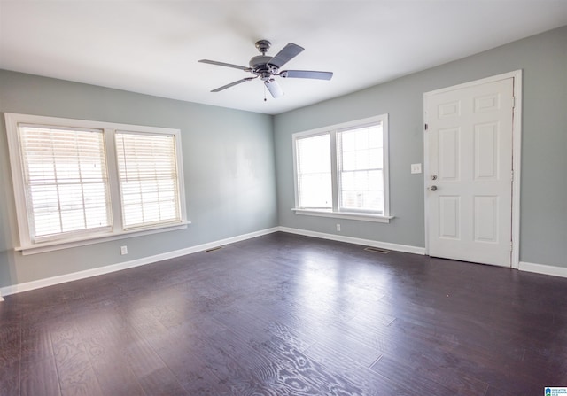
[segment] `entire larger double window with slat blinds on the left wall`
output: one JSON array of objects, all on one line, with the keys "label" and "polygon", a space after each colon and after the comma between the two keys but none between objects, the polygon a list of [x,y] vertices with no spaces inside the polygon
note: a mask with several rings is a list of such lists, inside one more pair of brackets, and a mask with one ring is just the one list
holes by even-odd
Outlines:
[{"label": "entire larger double window with slat blinds on the left wall", "polygon": [[44,252],[186,227],[178,129],[12,113],[5,118],[18,250]]}]

